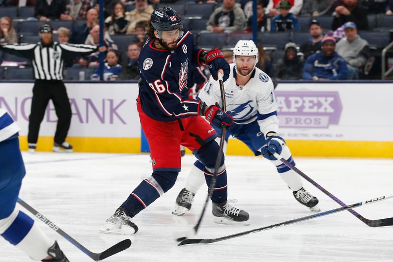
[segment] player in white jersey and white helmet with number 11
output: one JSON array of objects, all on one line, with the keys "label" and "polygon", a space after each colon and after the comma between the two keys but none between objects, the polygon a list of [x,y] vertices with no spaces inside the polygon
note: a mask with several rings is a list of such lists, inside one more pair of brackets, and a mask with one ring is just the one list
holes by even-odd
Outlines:
[{"label": "player in white jersey and white helmet with number 11", "polygon": [[[226,110],[233,116],[234,124],[227,128],[225,142],[229,135],[245,143],[255,154],[263,155],[276,166],[277,171],[288,187],[293,191],[295,199],[319,211],[318,199],[303,188],[300,176],[286,167],[273,156],[274,152],[295,165],[289,148],[279,135],[279,119],[277,103],[273,92],[273,82],[262,70],[255,67],[258,61],[258,50],[251,40],[240,40],[233,50],[233,64],[230,64],[230,75],[224,82]],[[221,104],[220,86],[212,78],[200,91],[198,98],[206,105]],[[221,133],[218,126],[213,126]],[[217,139],[218,143],[220,138]],[[224,152],[226,150],[226,143]],[[194,196],[204,183],[203,164],[196,161],[191,170],[185,188],[176,198],[172,214],[183,215],[190,210]]]}]

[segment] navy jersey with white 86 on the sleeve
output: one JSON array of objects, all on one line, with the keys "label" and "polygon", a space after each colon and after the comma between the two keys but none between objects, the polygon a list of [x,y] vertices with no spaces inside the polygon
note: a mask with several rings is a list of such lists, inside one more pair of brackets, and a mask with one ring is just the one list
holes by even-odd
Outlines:
[{"label": "navy jersey with white 86 on the sleeve", "polygon": [[174,51],[157,49],[149,39],[140,51],[140,103],[143,112],[158,121],[198,116],[200,101],[188,98],[188,75],[203,49],[197,48],[194,35],[187,31]]}]

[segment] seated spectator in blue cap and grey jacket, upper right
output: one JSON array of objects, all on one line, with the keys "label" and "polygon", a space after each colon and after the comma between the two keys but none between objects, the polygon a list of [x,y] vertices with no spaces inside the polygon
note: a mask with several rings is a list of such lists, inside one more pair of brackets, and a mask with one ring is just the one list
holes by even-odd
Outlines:
[{"label": "seated spectator in blue cap and grey jacket, upper right", "polygon": [[358,35],[354,22],[344,24],[345,36],[337,42],[337,54],[345,59],[348,67],[348,79],[359,79],[359,69],[365,66],[370,56],[366,40]]}]

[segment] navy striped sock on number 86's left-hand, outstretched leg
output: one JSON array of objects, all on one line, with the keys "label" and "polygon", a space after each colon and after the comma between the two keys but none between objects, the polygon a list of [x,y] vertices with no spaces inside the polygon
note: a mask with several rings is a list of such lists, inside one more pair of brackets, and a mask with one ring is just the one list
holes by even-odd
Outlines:
[{"label": "navy striped sock on number 86's left-hand, outstretched leg", "polygon": [[177,174],[178,172],[153,172],[134,189],[121,206],[126,208],[130,217],[134,217],[167,192],[174,185]]}]

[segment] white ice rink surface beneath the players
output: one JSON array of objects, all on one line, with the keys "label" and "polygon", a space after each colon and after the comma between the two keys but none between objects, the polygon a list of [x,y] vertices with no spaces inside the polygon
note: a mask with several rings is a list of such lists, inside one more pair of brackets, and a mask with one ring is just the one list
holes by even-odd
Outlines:
[{"label": "white ice rink surface beneath the players", "polygon": [[[171,214],[195,161],[182,159],[175,186],[138,214],[140,231],[132,236],[98,233],[105,220],[143,178],[151,175],[146,154],[24,153],[27,175],[21,198],[47,216],[92,252],[102,252],[130,238],[129,249],[108,262],[393,262],[393,227],[369,228],[348,211],[318,217],[273,230],[213,244],[177,246],[172,233],[192,228],[206,198],[201,189],[189,213]],[[295,158],[297,167],[345,204],[393,193],[392,159]],[[312,214],[299,204],[267,160],[226,157],[228,199],[250,213],[252,224],[225,226],[212,222],[211,205],[197,238],[215,238],[277,224]],[[306,190],[318,197],[322,211],[339,207],[306,180]],[[393,217],[393,200],[355,210],[368,219]],[[17,207],[24,210],[19,204]],[[28,211],[26,211],[30,214]],[[36,221],[56,238],[70,262],[92,261],[71,243]],[[0,240],[0,262],[28,262],[27,256]]]}]

